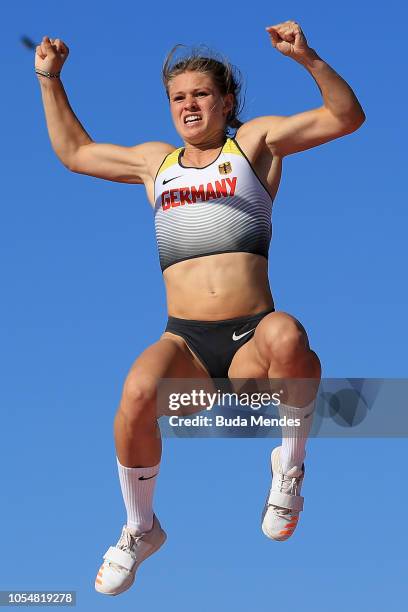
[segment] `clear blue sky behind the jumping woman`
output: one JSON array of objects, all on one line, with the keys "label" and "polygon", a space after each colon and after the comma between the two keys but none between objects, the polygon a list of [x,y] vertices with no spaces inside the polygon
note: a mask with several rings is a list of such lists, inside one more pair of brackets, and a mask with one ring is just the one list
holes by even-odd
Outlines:
[{"label": "clear blue sky behind the jumping woman", "polygon": [[264,31],[296,19],[367,122],[286,160],[276,304],[305,325],[325,376],[407,377],[406,18],[393,0],[3,7],[1,589],[76,589],[81,611],[403,609],[405,439],[313,439],[305,512],[285,544],[259,526],[275,440],[166,440],[156,512],[168,542],[128,593],[94,592],[124,521],[112,420],[129,366],[163,331],[165,294],[143,188],[61,165],[19,37],[70,46],[63,82],[94,140],[178,145],[160,81],[177,42],[241,68],[244,118],[320,104]]}]

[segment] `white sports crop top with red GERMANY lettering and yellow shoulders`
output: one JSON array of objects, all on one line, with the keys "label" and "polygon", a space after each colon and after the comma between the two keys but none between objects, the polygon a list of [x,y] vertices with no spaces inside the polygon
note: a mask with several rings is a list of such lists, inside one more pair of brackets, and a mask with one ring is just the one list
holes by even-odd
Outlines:
[{"label": "white sports crop top with red GERMANY lettering and yellow shoulders", "polygon": [[160,266],[205,255],[245,252],[268,258],[271,196],[235,139],[204,168],[181,163],[183,148],[163,160],[154,182]]}]

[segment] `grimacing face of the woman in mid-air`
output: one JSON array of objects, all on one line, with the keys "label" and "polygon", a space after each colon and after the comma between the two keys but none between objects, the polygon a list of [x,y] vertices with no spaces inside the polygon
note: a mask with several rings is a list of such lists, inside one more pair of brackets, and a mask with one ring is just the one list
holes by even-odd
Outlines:
[{"label": "grimacing face of the woman in mid-air", "polygon": [[179,74],[170,80],[169,98],[174,126],[184,141],[198,143],[225,131],[233,96],[221,96],[209,74]]}]

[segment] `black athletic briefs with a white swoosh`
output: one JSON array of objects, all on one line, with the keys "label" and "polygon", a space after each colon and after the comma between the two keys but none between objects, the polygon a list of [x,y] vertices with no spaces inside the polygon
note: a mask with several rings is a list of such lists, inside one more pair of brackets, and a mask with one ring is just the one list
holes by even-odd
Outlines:
[{"label": "black athletic briefs with a white swoosh", "polygon": [[231,361],[254,335],[258,323],[274,309],[224,321],[190,321],[169,317],[166,331],[181,336],[211,378],[227,378]]}]

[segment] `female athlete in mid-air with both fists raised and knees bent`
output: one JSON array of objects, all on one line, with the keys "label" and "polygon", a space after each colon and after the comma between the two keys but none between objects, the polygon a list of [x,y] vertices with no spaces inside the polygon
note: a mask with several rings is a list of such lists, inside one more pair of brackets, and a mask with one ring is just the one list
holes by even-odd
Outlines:
[{"label": "female athlete in mid-air with both fists raised and knees bent", "polygon": [[[279,406],[288,425],[282,445],[272,452],[265,535],[289,538],[303,507],[305,445],[321,366],[301,323],[274,309],[267,267],[271,208],[286,155],[349,134],[365,117],[349,85],[309,47],[296,22],[266,30],[272,46],[314,78],[322,105],[241,123],[237,71],[194,53],[174,61],[171,52],[163,80],[180,148],[164,142],[133,147],[94,142],[61,83],[68,47],[44,37],[36,48],[55,153],[73,172],[144,184],[167,293],[167,327],[131,367],[115,417],[127,523],[97,574],[100,593],[128,589],[140,563],[166,538],[152,505],[161,459],[156,390],[162,378],[315,381],[289,385]],[[290,426],[289,419],[299,419],[300,426]]]}]

